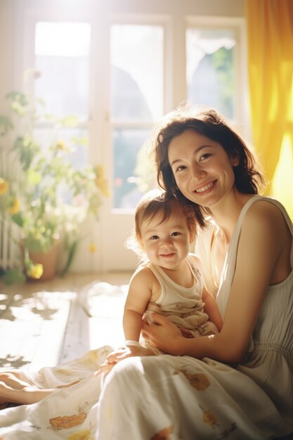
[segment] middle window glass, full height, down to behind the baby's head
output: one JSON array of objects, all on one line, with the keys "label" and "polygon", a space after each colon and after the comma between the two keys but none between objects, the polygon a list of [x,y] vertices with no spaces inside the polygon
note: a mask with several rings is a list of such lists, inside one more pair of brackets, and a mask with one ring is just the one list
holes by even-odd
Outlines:
[{"label": "middle window glass, full height, down to behind the baby's head", "polygon": [[138,152],[163,113],[163,28],[112,25],[110,33],[112,208],[133,209],[141,198]]}]

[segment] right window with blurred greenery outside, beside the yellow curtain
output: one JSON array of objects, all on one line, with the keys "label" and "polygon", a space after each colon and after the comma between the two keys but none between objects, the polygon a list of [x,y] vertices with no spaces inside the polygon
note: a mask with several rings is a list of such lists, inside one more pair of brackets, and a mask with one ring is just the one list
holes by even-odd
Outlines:
[{"label": "right window with blurred greenery outside, beside the yellow curtain", "polygon": [[248,124],[244,33],[242,19],[186,20],[186,98],[220,110],[240,131]]}]

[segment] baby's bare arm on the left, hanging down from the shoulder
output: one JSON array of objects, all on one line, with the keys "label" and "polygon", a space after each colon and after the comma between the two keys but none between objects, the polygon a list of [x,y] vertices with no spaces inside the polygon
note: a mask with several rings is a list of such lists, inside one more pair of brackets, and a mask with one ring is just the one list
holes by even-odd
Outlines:
[{"label": "baby's bare arm on the left, hanging down from the shoulder", "polygon": [[129,283],[123,315],[126,340],[137,341],[141,335],[143,313],[152,297],[152,276],[148,268],[138,269]]}]

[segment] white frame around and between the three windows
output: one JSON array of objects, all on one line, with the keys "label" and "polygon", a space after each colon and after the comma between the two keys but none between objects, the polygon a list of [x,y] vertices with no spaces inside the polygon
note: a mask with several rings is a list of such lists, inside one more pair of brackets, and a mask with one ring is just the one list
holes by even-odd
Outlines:
[{"label": "white frame around and between the three windows", "polygon": [[[89,22],[91,25],[91,67],[90,67],[90,110],[89,110],[89,163],[103,162],[105,174],[110,179],[112,169],[112,153],[110,145],[110,26],[115,24],[147,24],[164,27],[164,113],[167,113],[187,98],[186,93],[186,56],[185,56],[185,33],[188,26],[198,27],[226,27],[233,28],[237,36],[238,51],[235,57],[235,69],[237,78],[237,92],[235,97],[235,125],[245,137],[249,137],[249,105],[247,93],[247,53],[245,18],[195,15],[197,10],[193,2],[184,2],[178,8],[177,1],[162,1],[157,4],[148,4],[138,1],[136,4],[126,1],[125,7],[119,1],[112,2],[110,6],[100,2],[89,1],[89,9],[82,8],[82,13],[68,13],[60,6],[53,10],[49,1],[39,4],[32,0],[25,4],[19,2],[19,10],[15,20],[15,28],[19,34],[15,40],[15,48],[22,48],[19,56],[15,49],[14,60],[14,88],[22,88],[22,72],[27,67],[32,67],[34,57],[34,25],[39,21],[74,21]],[[227,2],[228,7],[228,2]],[[125,9],[125,12],[124,12]],[[201,6],[199,11],[205,12]],[[15,9],[16,11],[16,9]],[[116,12],[115,12],[116,11]],[[123,11],[123,12],[122,12]],[[143,13],[145,11],[145,13]],[[207,12],[209,13],[209,12]],[[100,44],[100,42],[103,42]],[[100,68],[103,66],[103,69]],[[126,122],[122,122],[125,124]],[[141,125],[141,123],[140,123]],[[129,231],[131,228],[134,212],[119,214],[112,212],[110,200],[105,200],[100,213],[98,224],[89,225],[93,238],[100,243],[98,252],[91,254],[86,259],[77,256],[72,266],[76,271],[111,271],[133,270],[136,267],[136,256],[131,251],[122,252],[119,257],[122,261],[120,266],[111,266],[111,258],[105,259],[105,252],[109,250],[110,237],[107,236],[106,226],[110,216],[120,215],[122,219],[119,228]],[[110,252],[117,252],[120,244],[110,246]],[[82,250],[82,247],[81,247]],[[105,261],[107,260],[107,261]]]}]

